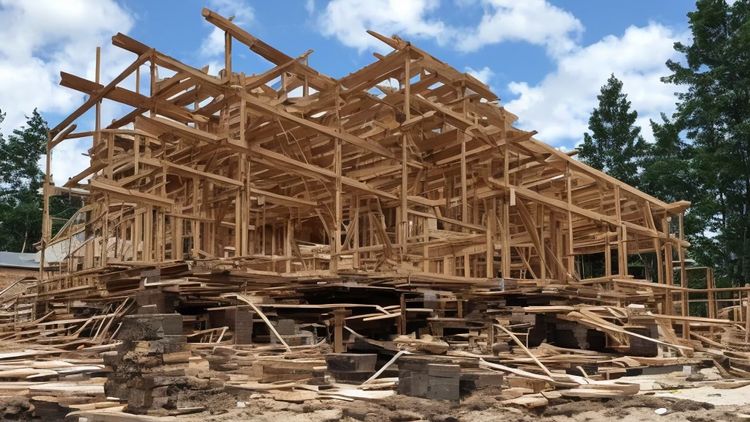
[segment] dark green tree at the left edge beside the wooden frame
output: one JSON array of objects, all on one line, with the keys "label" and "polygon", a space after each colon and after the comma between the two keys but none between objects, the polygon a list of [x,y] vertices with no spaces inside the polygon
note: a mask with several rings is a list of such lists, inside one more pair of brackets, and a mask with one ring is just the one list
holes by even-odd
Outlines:
[{"label": "dark green tree at the left edge beside the wooden frame", "polygon": [[[0,113],[0,122],[4,117]],[[7,138],[0,134],[0,250],[33,251],[41,239],[44,174],[39,162],[46,152],[47,130],[47,122],[34,110],[26,125]],[[76,209],[71,198],[50,200],[50,214],[58,223]]]}]

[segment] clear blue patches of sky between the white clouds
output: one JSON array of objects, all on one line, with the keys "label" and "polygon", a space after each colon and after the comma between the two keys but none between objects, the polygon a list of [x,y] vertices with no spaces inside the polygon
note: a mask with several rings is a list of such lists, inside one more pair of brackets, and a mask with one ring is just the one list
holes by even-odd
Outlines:
[{"label": "clear blue patches of sky between the white clouds", "polygon": [[[580,33],[579,41],[584,46],[607,35],[620,36],[629,26],[646,27],[650,23],[663,24],[673,28],[676,33],[682,33],[687,30],[686,14],[694,8],[694,2],[690,0],[567,0],[549,3],[572,13],[581,21],[584,30]],[[211,2],[135,0],[122,4],[137,17],[137,23],[130,31],[134,37],[171,52],[182,60],[200,63],[201,55],[197,47],[211,29],[201,17],[200,10],[204,6],[212,7]],[[254,16],[252,22],[243,26],[250,33],[290,55],[301,54],[307,49],[314,50],[310,63],[331,76],[343,76],[374,60],[371,51],[347,47],[335,37],[321,33],[319,17],[328,4],[326,1],[312,2],[315,5],[313,14],[306,8],[309,2],[302,0],[247,4]],[[431,16],[456,26],[471,26],[480,21],[484,10],[480,1],[443,0]],[[510,82],[536,84],[555,66],[543,47],[522,40],[495,43],[477,51],[463,52],[450,45],[441,45],[434,38],[403,37],[458,69],[488,67],[494,72],[489,82],[503,99],[512,97],[507,90]],[[252,53],[241,53],[241,49],[235,51],[242,56],[238,58],[239,63],[249,72],[261,72],[267,68]]]}]

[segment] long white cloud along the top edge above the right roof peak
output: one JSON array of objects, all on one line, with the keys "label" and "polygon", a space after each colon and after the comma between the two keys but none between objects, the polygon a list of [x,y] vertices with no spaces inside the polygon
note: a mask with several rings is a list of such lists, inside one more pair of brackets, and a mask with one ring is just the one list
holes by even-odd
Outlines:
[{"label": "long white cloud along the top edge above the right roof peak", "polygon": [[583,31],[583,25],[571,13],[546,0],[454,0],[460,8],[477,4],[484,8],[482,19],[469,27],[452,26],[433,16],[439,0],[332,0],[317,23],[323,35],[360,51],[388,49],[370,37],[367,29],[385,35],[435,39],[461,51],[476,51],[503,41],[525,41],[544,46],[553,54],[572,49]]}]

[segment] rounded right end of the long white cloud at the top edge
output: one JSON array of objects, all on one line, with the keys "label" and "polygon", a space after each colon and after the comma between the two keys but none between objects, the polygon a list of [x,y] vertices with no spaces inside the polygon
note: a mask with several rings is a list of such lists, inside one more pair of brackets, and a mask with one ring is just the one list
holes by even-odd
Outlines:
[{"label": "rounded right end of the long white cloud at the top edge", "polygon": [[583,25],[570,12],[545,0],[485,0],[482,19],[474,28],[456,31],[457,48],[476,51],[503,41],[525,41],[552,55],[573,49]]}]

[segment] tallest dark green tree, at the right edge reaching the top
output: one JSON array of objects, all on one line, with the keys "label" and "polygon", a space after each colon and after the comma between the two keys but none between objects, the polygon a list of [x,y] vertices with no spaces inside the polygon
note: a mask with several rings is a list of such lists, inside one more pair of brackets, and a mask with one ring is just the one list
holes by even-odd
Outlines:
[{"label": "tallest dark green tree, at the right edge reaching the top", "polygon": [[668,61],[665,82],[683,86],[676,120],[691,142],[693,211],[705,228],[694,256],[717,277],[750,282],[750,1],[699,0],[691,44]]}]

